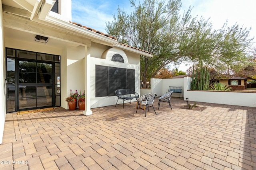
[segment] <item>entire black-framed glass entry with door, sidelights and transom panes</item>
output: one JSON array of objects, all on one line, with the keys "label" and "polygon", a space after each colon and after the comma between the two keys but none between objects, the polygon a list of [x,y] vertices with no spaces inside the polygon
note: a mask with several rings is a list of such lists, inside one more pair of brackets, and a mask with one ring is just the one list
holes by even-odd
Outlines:
[{"label": "entire black-framed glass entry with door, sidelights and transom panes", "polygon": [[6,111],[60,106],[60,56],[6,48]]}]

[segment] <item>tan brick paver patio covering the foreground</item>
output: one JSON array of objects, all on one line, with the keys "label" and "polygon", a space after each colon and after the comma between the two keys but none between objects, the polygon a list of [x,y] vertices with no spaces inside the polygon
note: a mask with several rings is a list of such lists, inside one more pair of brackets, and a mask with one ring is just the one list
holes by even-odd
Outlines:
[{"label": "tan brick paver patio covering the foreground", "polygon": [[7,114],[0,169],[256,170],[256,107],[171,103]]}]

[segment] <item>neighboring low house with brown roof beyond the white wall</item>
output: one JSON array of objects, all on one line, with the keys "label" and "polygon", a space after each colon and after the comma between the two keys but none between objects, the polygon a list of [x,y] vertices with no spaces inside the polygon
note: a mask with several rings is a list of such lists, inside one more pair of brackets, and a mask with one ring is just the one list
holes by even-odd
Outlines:
[{"label": "neighboring low house with brown roof beyond the white wall", "polygon": [[234,75],[221,75],[217,78],[210,80],[210,84],[214,82],[222,82],[226,86],[230,86],[232,90],[244,90],[247,88],[246,77],[234,76]]}]

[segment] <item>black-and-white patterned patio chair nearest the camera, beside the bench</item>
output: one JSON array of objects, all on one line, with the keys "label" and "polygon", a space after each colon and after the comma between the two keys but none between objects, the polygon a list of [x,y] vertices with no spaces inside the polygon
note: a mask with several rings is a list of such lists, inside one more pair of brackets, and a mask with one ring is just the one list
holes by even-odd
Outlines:
[{"label": "black-and-white patterned patio chair nearest the camera, beside the bench", "polygon": [[[140,96],[139,98],[138,98],[138,104],[137,104],[137,110],[136,110],[136,113],[137,113],[137,111],[138,111],[138,106],[139,106],[139,104],[142,104],[142,105],[145,105],[146,106],[146,109],[145,109],[145,117],[146,117],[146,114],[147,114],[147,107],[153,107],[153,109],[154,109],[154,106],[153,106],[153,102],[154,102],[154,100],[155,100],[155,98],[156,98],[156,93],[149,93],[149,94],[145,94],[145,95],[143,95],[143,96]],[[149,105],[152,105],[152,106],[149,106]],[[155,111],[155,109],[154,109],[154,111]],[[155,113],[156,113],[156,111],[155,111]]]}]

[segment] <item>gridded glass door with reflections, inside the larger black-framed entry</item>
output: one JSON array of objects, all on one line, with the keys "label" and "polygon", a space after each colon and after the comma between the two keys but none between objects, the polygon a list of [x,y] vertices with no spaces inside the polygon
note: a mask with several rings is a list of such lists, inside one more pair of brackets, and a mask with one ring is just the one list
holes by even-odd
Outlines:
[{"label": "gridded glass door with reflections, inside the larger black-framed entry", "polygon": [[52,106],[52,63],[19,60],[18,109]]}]

